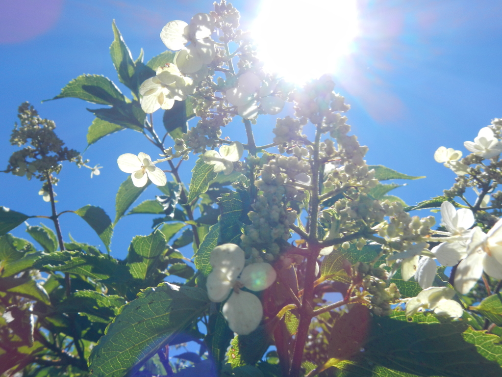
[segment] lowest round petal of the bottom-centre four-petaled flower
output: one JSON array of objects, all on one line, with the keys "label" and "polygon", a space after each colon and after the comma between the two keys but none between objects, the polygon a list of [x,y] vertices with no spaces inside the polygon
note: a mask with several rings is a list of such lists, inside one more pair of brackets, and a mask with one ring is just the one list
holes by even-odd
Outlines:
[{"label": "lowest round petal of the bottom-centre four-petaled flower", "polygon": [[223,305],[223,317],[228,321],[230,330],[238,335],[253,332],[263,317],[263,307],[260,299],[249,292],[233,292]]}]

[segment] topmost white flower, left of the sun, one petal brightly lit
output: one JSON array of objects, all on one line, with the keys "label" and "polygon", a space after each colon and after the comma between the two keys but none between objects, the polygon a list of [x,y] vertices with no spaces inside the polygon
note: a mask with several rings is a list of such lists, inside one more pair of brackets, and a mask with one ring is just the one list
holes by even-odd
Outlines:
[{"label": "topmost white flower, left of the sun, one petal brightly lit", "polygon": [[[164,26],[160,38],[167,48],[178,51],[175,64],[183,73],[195,73],[214,58],[214,42],[209,38],[214,31],[214,19],[207,13],[198,13],[190,24],[171,21]],[[188,42],[190,45],[186,46]]]}]

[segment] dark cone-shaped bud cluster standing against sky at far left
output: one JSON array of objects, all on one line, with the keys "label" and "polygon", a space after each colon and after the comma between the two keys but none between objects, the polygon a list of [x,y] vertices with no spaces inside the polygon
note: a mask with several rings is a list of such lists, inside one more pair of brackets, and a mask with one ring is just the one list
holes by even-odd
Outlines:
[{"label": "dark cone-shaped bud cluster standing against sky at far left", "polygon": [[74,149],[63,147],[64,142],[54,133],[56,125],[53,121],[42,119],[28,102],[19,107],[18,118],[21,125],[15,124],[11,135],[11,144],[24,147],[12,154],[5,172],[31,179],[33,176],[41,180],[47,179],[50,172],[59,173],[61,161],[73,161],[78,164],[84,161],[80,153]]}]

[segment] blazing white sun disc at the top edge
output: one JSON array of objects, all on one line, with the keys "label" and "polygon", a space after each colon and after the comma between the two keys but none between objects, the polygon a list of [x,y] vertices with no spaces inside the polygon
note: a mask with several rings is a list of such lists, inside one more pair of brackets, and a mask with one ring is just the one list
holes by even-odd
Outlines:
[{"label": "blazing white sun disc at the top edge", "polygon": [[356,0],[262,0],[252,32],[265,68],[302,84],[336,73],[357,21]]}]

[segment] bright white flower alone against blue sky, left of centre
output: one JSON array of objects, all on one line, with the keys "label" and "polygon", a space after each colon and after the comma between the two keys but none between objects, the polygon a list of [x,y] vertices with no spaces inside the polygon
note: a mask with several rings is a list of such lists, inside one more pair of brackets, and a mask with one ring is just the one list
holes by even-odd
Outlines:
[{"label": "bright white flower alone against blue sky, left of centre", "polygon": [[124,153],[117,158],[118,168],[125,173],[131,173],[131,179],[136,187],[143,187],[148,178],[158,185],[164,186],[167,182],[166,174],[154,165],[150,156],[140,152],[138,155]]}]

